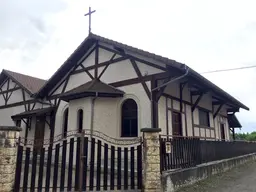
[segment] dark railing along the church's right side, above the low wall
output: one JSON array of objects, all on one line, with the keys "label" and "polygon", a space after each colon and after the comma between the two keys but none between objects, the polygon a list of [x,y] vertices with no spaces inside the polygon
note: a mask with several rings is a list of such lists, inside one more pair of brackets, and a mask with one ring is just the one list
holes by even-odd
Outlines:
[{"label": "dark railing along the church's right side, above the low wall", "polygon": [[161,170],[184,169],[202,163],[256,152],[256,142],[202,140],[198,137],[161,136]]}]

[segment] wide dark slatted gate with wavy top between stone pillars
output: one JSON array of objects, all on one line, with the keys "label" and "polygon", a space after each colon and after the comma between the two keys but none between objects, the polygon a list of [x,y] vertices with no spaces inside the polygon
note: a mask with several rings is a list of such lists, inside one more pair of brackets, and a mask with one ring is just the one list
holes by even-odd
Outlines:
[{"label": "wide dark slatted gate with wavy top between stone pillars", "polygon": [[114,139],[89,130],[69,131],[43,145],[20,138],[16,166],[15,192],[142,188],[140,138]]}]

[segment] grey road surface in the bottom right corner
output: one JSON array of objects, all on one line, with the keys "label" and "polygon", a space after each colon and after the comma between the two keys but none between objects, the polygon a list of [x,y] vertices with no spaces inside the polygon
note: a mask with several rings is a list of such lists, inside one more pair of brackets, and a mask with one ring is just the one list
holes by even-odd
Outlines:
[{"label": "grey road surface in the bottom right corner", "polygon": [[215,175],[178,192],[256,192],[256,162]]}]

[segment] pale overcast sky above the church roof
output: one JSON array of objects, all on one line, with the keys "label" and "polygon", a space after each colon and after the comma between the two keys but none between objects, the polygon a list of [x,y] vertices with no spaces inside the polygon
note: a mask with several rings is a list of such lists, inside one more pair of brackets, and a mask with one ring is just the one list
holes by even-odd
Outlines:
[{"label": "pale overcast sky above the church roof", "polygon": [[[48,79],[92,32],[186,63],[198,72],[256,65],[255,1],[1,0],[0,69]],[[256,68],[205,74],[250,111],[256,130]]]}]

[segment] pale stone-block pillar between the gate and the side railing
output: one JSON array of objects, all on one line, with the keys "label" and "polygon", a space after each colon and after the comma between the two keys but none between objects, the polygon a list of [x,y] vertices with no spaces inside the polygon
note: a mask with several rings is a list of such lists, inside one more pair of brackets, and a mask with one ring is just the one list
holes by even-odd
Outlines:
[{"label": "pale stone-block pillar between the gate and the side railing", "polygon": [[145,192],[161,191],[159,128],[143,128],[143,186]]}]

